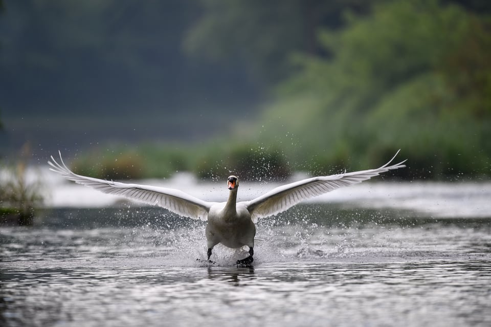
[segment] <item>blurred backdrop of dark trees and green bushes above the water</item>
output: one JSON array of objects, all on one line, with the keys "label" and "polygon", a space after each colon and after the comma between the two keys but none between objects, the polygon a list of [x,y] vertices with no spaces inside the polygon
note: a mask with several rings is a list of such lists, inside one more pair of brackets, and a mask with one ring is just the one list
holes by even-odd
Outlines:
[{"label": "blurred backdrop of dark trees and green bushes above the water", "polygon": [[114,179],[491,175],[486,0],[0,0],[0,156]]}]

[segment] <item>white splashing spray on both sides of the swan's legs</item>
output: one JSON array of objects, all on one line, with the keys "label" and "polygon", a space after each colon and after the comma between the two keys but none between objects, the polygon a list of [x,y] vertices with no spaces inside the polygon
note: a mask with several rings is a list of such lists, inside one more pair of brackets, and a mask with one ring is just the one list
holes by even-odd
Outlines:
[{"label": "white splashing spray on both sides of the swan's legs", "polygon": [[[302,207],[291,209],[289,215],[270,217],[256,224],[254,265],[292,260],[319,260],[332,255],[342,255],[346,249],[345,234],[349,231],[338,228],[333,231],[324,228],[317,222],[311,221],[318,219],[318,217],[315,218],[320,213],[317,205],[307,209],[307,214],[299,215],[299,211],[305,211],[305,206]],[[309,215],[313,210],[316,211],[315,219]],[[167,213],[166,215],[172,214]],[[322,220],[324,219],[323,217]],[[161,226],[147,224],[139,232],[142,235],[152,234],[159,244],[166,245],[164,253],[158,248],[154,249],[154,254],[161,256],[162,263],[165,265],[235,266],[238,259],[249,255],[247,246],[231,249],[218,244],[214,247],[210,258],[214,263],[209,264],[206,254],[206,223],[192,220],[183,222],[181,218],[171,219],[168,223],[164,222],[166,222],[165,217],[161,219]],[[176,223],[184,224],[184,226],[172,228]]]}]

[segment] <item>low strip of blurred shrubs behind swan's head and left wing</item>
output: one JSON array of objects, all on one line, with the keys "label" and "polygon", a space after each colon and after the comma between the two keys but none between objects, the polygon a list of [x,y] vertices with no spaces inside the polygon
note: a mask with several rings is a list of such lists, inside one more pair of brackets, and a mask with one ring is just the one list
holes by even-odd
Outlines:
[{"label": "low strip of blurred shrubs behind swan's head and left wing", "polygon": [[168,178],[193,171],[199,178],[221,180],[235,174],[243,180],[278,180],[291,173],[279,148],[236,141],[186,144],[108,145],[68,163],[76,172],[107,180]]}]

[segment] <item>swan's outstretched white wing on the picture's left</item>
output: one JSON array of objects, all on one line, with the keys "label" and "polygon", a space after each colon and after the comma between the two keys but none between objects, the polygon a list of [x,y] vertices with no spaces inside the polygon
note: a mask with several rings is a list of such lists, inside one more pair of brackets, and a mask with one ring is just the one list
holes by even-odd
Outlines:
[{"label": "swan's outstretched white wing on the picture's left", "polygon": [[48,164],[51,166],[50,170],[59,173],[59,175],[74,181],[75,183],[90,186],[104,193],[121,195],[128,199],[141,201],[151,205],[158,205],[192,219],[200,219],[203,221],[208,219],[208,211],[212,203],[194,198],[183,191],[148,185],[126,184],[81,176],[66,167],[61,158],[61,154],[61,164],[56,162],[53,157],[51,157],[51,160],[52,161],[48,161]]}]

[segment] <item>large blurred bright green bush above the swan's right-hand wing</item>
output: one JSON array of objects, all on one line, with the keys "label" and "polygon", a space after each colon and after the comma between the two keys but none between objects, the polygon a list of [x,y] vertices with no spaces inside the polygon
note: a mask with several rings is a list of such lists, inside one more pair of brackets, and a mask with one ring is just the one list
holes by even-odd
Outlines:
[{"label": "large blurred bright green bush above the swan's right-hand wing", "polygon": [[[411,178],[489,174],[488,18],[415,0],[347,19],[320,34],[332,57],[295,57],[300,70],[266,108],[266,129],[302,135],[291,150],[323,158],[316,165],[349,153],[355,168],[376,166],[403,148]],[[315,154],[326,148],[330,155]]]}]

